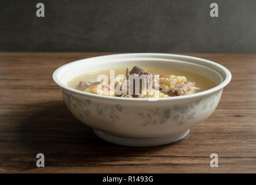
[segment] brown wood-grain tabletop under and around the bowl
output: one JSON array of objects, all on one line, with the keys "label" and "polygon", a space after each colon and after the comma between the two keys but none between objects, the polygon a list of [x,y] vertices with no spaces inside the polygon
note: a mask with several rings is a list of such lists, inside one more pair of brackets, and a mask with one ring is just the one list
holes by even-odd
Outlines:
[{"label": "brown wood-grain tabletop under and around the bowl", "polygon": [[[171,145],[125,147],[98,139],[65,107],[52,73],[109,53],[0,53],[0,172],[256,172],[256,54],[188,54],[232,73],[221,102],[202,124]],[[36,154],[45,168],[36,167]],[[210,154],[218,154],[218,168]]]}]

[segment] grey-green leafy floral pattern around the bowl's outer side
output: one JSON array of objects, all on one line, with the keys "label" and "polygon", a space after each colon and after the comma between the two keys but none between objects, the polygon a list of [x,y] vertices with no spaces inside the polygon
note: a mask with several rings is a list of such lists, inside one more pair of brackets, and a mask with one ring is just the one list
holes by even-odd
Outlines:
[{"label": "grey-green leafy floral pattern around the bowl's outer side", "polygon": [[[138,112],[138,124],[142,126],[161,125],[161,124],[176,124],[184,125],[186,121],[195,119],[196,110],[198,107],[200,111],[207,111],[217,106],[221,92],[215,93],[210,97],[200,98],[197,101],[186,103],[185,105],[173,105],[169,107],[149,108]],[[89,98],[75,97],[67,91],[63,91],[65,103],[69,109],[75,109],[78,116],[83,119],[93,119],[94,116],[103,117],[104,120],[112,121],[120,120],[123,114],[129,114],[129,110],[124,110],[122,105],[101,105],[93,102]],[[136,116],[136,115],[134,115]]]}]

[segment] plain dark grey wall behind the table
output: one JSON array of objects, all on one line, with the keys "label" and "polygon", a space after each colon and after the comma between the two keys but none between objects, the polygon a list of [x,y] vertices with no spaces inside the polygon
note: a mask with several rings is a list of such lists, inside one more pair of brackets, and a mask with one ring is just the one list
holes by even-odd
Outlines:
[{"label": "plain dark grey wall behind the table", "polygon": [[256,52],[255,0],[1,0],[0,10],[0,51]]}]

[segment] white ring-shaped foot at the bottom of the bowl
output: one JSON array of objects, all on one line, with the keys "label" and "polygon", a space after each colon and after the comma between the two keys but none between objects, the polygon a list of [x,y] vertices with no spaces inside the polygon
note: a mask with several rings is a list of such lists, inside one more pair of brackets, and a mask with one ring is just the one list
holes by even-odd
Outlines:
[{"label": "white ring-shaped foot at the bottom of the bowl", "polygon": [[189,129],[185,131],[175,132],[170,135],[155,137],[155,138],[133,138],[126,136],[119,136],[114,134],[109,134],[107,132],[99,131],[93,129],[94,133],[101,139],[106,140],[111,143],[125,146],[159,146],[166,145],[169,143],[176,142],[188,135]]}]

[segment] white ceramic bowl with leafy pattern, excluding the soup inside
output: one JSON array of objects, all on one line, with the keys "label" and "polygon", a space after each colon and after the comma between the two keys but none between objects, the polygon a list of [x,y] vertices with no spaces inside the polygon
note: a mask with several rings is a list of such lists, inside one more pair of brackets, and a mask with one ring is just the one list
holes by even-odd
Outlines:
[{"label": "white ceramic bowl with leafy pattern, excluding the soup inside", "polygon": [[[147,99],[90,94],[66,84],[74,77],[99,69],[158,66],[207,77],[218,86],[180,97]],[[184,138],[189,128],[213,113],[231,73],[202,58],[162,53],[114,54],[71,62],[53,73],[68,109],[94,133],[108,142],[126,146],[157,146]]]}]

